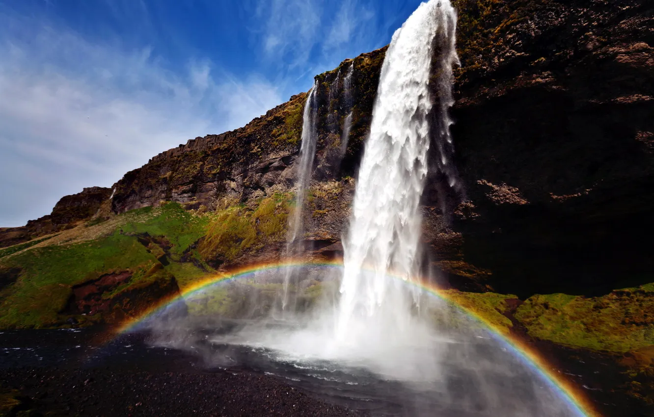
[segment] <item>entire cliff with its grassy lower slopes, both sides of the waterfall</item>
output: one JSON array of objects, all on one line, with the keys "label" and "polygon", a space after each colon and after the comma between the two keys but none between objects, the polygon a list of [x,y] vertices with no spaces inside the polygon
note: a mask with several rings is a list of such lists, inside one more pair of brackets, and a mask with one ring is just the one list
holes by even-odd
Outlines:
[{"label": "entire cliff with its grassy lower slopes, both sides of the waterfall", "polygon": [[[453,137],[464,186],[453,190],[432,170],[426,269],[508,332],[619,363],[602,378],[651,406],[654,4],[453,3],[462,64]],[[300,242],[309,258],[342,254],[384,54],[316,77],[318,151]],[[343,144],[351,65],[353,124]],[[14,245],[0,250],[0,325],[61,325],[85,309],[104,318],[84,320],[111,322],[138,311],[139,294],[149,303],[216,270],[279,258],[306,98],[155,156],[118,181],[111,200],[109,189],[85,190],[46,218],[0,229],[0,247]],[[29,320],[8,313],[36,305],[40,292],[26,283],[44,265],[61,273],[80,256],[91,260],[76,276],[48,275],[56,307]]]}]

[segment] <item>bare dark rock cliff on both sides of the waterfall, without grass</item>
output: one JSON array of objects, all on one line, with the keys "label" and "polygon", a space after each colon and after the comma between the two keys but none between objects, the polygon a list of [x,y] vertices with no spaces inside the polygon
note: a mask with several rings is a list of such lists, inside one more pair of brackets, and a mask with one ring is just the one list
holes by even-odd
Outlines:
[{"label": "bare dark rock cliff on both sides of the waterfall, without grass", "polygon": [[[428,263],[457,288],[521,297],[595,295],[650,282],[654,265],[641,242],[654,230],[654,6],[454,3],[462,67],[453,135],[465,193],[432,173],[424,195]],[[304,213],[305,246],[315,254],[341,252],[384,54],[363,54],[316,77],[318,152]],[[341,144],[351,65],[353,125]],[[176,201],[254,212],[264,198],[292,195],[306,97],[152,158],[116,184],[111,210]],[[50,216],[2,229],[0,241],[7,246],[88,218],[109,193],[64,197]],[[279,256],[281,240],[207,261],[218,267]]]}]

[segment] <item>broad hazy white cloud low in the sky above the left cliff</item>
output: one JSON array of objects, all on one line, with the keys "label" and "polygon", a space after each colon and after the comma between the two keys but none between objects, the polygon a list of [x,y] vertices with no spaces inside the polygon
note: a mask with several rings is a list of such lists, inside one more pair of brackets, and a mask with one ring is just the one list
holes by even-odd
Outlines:
[{"label": "broad hazy white cloud low in the sky above the left cliff", "polygon": [[2,226],[282,102],[264,78],[235,78],[208,60],[173,73],[148,47],[95,44],[52,27],[9,35],[0,41]]}]

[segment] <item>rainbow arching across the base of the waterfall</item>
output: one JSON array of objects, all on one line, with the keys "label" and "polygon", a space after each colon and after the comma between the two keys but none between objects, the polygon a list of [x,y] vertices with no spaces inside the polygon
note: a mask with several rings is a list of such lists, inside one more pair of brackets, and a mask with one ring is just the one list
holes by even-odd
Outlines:
[{"label": "rainbow arching across the base of the waterfall", "polygon": [[[192,286],[188,286],[187,288],[184,288],[184,290],[181,293],[174,295],[173,297],[168,297],[160,300],[159,303],[150,307],[150,309],[141,313],[139,316],[129,318],[114,330],[114,334],[122,335],[124,333],[129,333],[130,331],[134,331],[135,329],[137,329],[137,327],[139,327],[139,325],[145,323],[149,318],[156,316],[169,305],[181,301],[182,299],[190,295],[193,295],[194,293],[201,292],[206,288],[215,286],[216,284],[248,278],[254,275],[255,273],[260,273],[265,271],[275,271],[279,269],[292,268],[292,267],[324,267],[324,268],[341,269],[343,267],[343,263],[341,261],[330,261],[330,262],[283,261],[277,263],[259,263],[254,265],[248,265],[245,267],[241,267],[239,269],[233,269],[232,271],[229,271],[227,273],[218,273],[217,275],[212,275],[203,280],[199,280]],[[389,273],[388,276],[402,279],[400,278],[400,276],[393,275],[392,273]],[[488,320],[486,320],[479,314],[473,312],[470,309],[466,309],[461,305],[458,305],[453,299],[451,299],[451,297],[447,295],[447,293],[443,292],[441,289],[437,288],[433,284],[426,284],[424,282],[413,282],[413,281],[411,282],[405,281],[405,282],[409,285],[417,286],[424,292],[427,292],[430,295],[434,297],[438,297],[439,299],[449,303],[449,305],[453,305],[454,307],[456,307],[456,309],[464,312],[468,317],[472,318],[475,322],[478,322],[479,324],[483,325],[486,329],[489,330],[489,334],[496,341],[500,342],[500,344],[508,348],[509,351],[513,352],[513,354],[517,358],[520,358],[527,367],[535,371],[538,375],[541,375],[543,380],[545,380],[545,382],[547,382],[549,386],[551,386],[551,388],[555,390],[555,392],[559,393],[560,397],[568,401],[572,409],[576,410],[576,413],[579,416],[586,416],[586,417],[601,416],[600,413],[594,409],[593,403],[591,403],[591,401],[589,401],[589,399],[585,397],[583,392],[581,392],[579,388],[577,388],[577,386],[572,384],[570,381],[566,380],[564,376],[560,375],[560,371],[558,371],[557,369],[555,369],[555,367],[547,363],[547,361],[545,361],[545,359],[543,359],[542,356],[540,356],[540,354],[536,352],[536,350],[525,344],[525,342],[519,340],[517,337],[504,334],[504,332],[498,329],[498,327],[491,324]]]}]

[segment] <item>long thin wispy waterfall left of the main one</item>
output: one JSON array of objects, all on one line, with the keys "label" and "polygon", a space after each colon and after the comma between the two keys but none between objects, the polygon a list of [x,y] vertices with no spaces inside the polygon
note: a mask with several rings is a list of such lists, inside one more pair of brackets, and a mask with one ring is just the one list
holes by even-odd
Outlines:
[{"label": "long thin wispy waterfall left of the main one", "polygon": [[[304,112],[302,115],[302,133],[300,145],[300,163],[298,164],[298,176],[296,177],[296,199],[295,210],[289,218],[289,231],[288,241],[286,242],[286,258],[293,258],[298,255],[298,248],[296,247],[296,240],[303,234],[303,209],[304,200],[311,182],[311,170],[313,169],[313,159],[316,155],[316,123],[318,115],[318,106],[316,105],[316,90],[318,89],[317,82],[314,82],[313,87],[309,90],[307,101],[304,105]],[[293,278],[292,269],[288,269],[284,274],[284,288],[282,309],[286,309],[288,304],[288,287]]]}]

